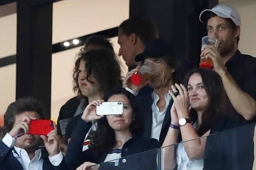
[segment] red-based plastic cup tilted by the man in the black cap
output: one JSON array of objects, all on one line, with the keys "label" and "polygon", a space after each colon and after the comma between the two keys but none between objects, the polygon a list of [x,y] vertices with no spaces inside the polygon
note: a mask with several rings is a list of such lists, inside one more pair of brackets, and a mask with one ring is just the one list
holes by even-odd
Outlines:
[{"label": "red-based plastic cup tilted by the man in the black cap", "polygon": [[131,83],[138,86],[150,80],[157,73],[157,65],[150,60],[146,60],[139,71],[131,76]]}]

